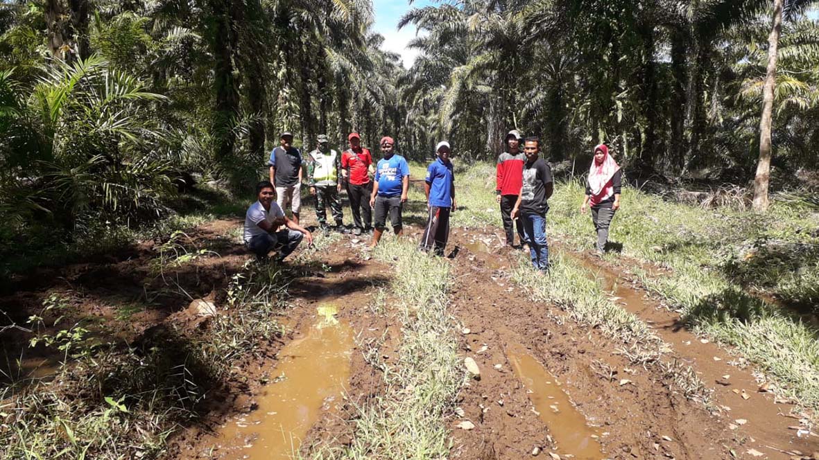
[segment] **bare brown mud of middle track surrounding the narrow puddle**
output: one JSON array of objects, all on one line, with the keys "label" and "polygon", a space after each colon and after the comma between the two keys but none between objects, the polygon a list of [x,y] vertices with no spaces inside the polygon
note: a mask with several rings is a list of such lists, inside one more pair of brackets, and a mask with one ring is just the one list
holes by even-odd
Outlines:
[{"label": "bare brown mud of middle track surrounding the narrow puddle", "polygon": [[[459,230],[450,241],[465,248],[476,236]],[[532,412],[505,353],[515,344],[562,381],[577,410],[599,427],[606,458],[730,457],[724,446],[735,449],[735,440],[704,408],[673,390],[671,381],[613,354],[617,345],[600,332],[520,295],[509,268],[508,257],[482,251],[455,259],[453,309],[470,330],[463,350],[476,359],[482,378],[464,389],[464,417],[477,422],[473,431],[453,431],[454,458],[532,458],[536,448],[572,455],[572,446],[550,442],[548,427]],[[629,382],[620,385],[621,379]]]}]

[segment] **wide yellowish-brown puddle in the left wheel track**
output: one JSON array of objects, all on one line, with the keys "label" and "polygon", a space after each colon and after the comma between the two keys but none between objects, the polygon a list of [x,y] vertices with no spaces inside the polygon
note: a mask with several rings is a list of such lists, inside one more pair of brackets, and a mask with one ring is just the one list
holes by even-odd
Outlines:
[{"label": "wide yellowish-brown puddle in the left wheel track", "polygon": [[272,382],[255,398],[258,408],[220,430],[218,458],[294,458],[319,416],[341,403],[350,379],[353,333],[335,313],[334,305],[319,306],[304,336],[279,352]]}]

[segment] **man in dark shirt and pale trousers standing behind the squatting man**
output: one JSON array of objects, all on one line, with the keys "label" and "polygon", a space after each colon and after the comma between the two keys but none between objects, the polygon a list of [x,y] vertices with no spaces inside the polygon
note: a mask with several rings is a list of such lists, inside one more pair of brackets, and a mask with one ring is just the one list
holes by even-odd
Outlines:
[{"label": "man in dark shirt and pale trousers standing behind the squatting man", "polygon": [[301,151],[293,147],[293,135],[279,136],[279,147],[270,152],[270,183],[276,191],[276,203],[282,210],[291,206],[293,222],[298,225],[301,210]]}]

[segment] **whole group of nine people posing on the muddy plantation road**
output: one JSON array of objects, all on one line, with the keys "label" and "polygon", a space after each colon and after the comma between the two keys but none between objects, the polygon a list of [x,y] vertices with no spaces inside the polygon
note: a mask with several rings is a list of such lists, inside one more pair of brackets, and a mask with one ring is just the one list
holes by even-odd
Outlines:
[{"label": "whole group of nine people posing on the muddy plantation road", "polygon": [[[271,250],[275,250],[276,259],[282,260],[303,239],[312,242],[310,231],[299,224],[303,170],[306,170],[310,195],[315,198],[320,228],[348,232],[343,223],[340,197],[343,186],[350,201],[355,235],[372,233],[370,247],[377,246],[386,230],[387,217],[396,236],[402,234],[402,212],[409,192],[409,164],[396,152],[393,138],[381,138],[382,159],[373,165],[373,156],[369,149],[361,147],[358,133],[347,136],[350,147],[341,155],[329,147],[327,136],[320,134],[316,149],[307,155],[304,169],[301,152],[292,146],[292,140],[292,133],[288,132],[279,137],[279,146],[271,151],[268,161],[269,181],[257,185],[258,201],[247,210],[244,241],[258,258],[265,259]],[[507,134],[507,150],[497,161],[495,192],[506,244],[529,250],[534,268],[545,272],[549,268],[545,216],[549,211],[548,200],[554,192],[554,178],[549,163],[540,157],[540,143],[539,138],[524,139],[518,130]],[[594,152],[581,212],[591,209],[598,237],[596,248],[603,252],[609,224],[620,205],[622,173],[609,155],[608,147],[600,144]],[[424,181],[428,219],[420,247],[443,255],[449,237],[450,213],[457,209],[455,174],[449,142],[438,142],[435,153],[437,158],[428,166]],[[284,214],[288,205],[292,219]],[[328,207],[333,226],[327,220]],[[520,240],[518,246],[514,244],[515,232]]]}]

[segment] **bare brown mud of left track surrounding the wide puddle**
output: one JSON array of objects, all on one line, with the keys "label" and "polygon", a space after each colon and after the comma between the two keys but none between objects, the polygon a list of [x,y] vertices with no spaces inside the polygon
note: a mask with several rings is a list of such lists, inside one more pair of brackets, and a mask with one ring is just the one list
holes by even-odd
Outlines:
[{"label": "bare brown mud of left track surrounding the wide puddle", "polygon": [[[302,449],[307,451],[311,444],[319,440],[337,445],[349,444],[352,433],[350,421],[355,417],[355,405],[376,397],[382,391],[382,378],[364,360],[360,344],[380,341],[389,336],[385,332],[388,329],[386,318],[369,310],[373,292],[389,281],[385,275],[388,270],[378,262],[362,261],[358,247],[351,245],[348,237],[342,237],[341,241],[324,250],[320,261],[324,269],[306,270],[301,273],[303,276],[294,275],[293,282],[288,286],[292,308],[285,310],[280,320],[287,325],[287,333],[277,344],[275,355],[267,354],[243,369],[242,374],[249,382],[247,390],[229,398],[229,402],[212,413],[201,427],[179,436],[171,458],[243,458],[247,454],[244,449],[257,440],[252,426],[251,430],[239,430],[228,437],[219,435],[220,427],[246,425],[251,417],[260,417],[261,414],[256,411],[265,407],[260,400],[268,397],[265,393],[275,390],[273,386],[281,373],[279,366],[285,363],[283,359],[299,359],[297,356],[285,358],[278,353],[286,350],[288,345],[310,340],[311,328],[319,321],[317,309],[326,305],[337,307],[335,318],[349,325],[355,339],[347,352],[350,356],[349,380],[344,383],[341,393],[321,402],[318,415],[311,417],[309,431],[303,435],[303,439],[299,435],[293,447],[297,450],[299,444],[303,444]],[[299,350],[298,345],[295,350]],[[295,410],[295,406],[286,410]],[[291,453],[284,453],[286,457],[283,458],[289,458]],[[263,455],[265,458],[278,458],[275,457],[278,454],[266,451]],[[250,455],[250,458],[257,457],[256,454]]]}]

